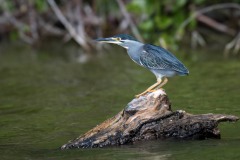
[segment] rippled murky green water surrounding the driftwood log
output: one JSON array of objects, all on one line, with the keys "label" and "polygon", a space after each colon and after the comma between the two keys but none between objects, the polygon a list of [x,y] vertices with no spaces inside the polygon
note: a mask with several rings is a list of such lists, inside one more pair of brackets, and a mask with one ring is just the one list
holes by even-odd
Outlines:
[{"label": "rippled murky green water surrounding the driftwood log", "polygon": [[[0,45],[1,159],[240,159],[240,123],[220,125],[221,140],[149,141],[104,149],[59,147],[118,113],[155,77],[113,47],[79,63],[73,45]],[[192,53],[190,53],[192,52]],[[172,109],[240,116],[239,58],[183,50],[190,70],[165,86]]]}]

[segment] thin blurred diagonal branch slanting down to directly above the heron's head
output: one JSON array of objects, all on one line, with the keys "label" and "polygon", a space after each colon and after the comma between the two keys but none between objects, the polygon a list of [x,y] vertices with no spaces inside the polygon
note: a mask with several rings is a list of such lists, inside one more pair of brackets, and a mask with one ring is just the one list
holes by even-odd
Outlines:
[{"label": "thin blurred diagonal branch slanting down to directly above the heron's head", "polygon": [[126,19],[126,22],[129,24],[131,31],[133,32],[134,36],[139,40],[143,42],[143,38],[140,35],[136,25],[134,24],[134,22],[132,21],[129,13],[127,12],[124,3],[122,2],[122,0],[117,0],[117,3],[119,5],[120,11],[122,12],[123,16]]}]

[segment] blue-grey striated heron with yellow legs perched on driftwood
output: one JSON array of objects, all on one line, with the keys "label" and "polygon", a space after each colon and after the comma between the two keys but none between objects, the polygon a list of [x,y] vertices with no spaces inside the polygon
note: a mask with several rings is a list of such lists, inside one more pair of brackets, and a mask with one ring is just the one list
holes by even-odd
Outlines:
[{"label": "blue-grey striated heron with yellow legs perched on driftwood", "polygon": [[98,38],[96,40],[105,43],[118,44],[126,48],[129,57],[135,63],[147,68],[156,76],[157,82],[144,92],[136,95],[136,97],[161,88],[167,83],[167,77],[173,77],[176,75],[184,76],[189,74],[188,69],[182,64],[182,62],[166,49],[151,44],[143,44],[127,34],[119,34],[109,38]]}]

